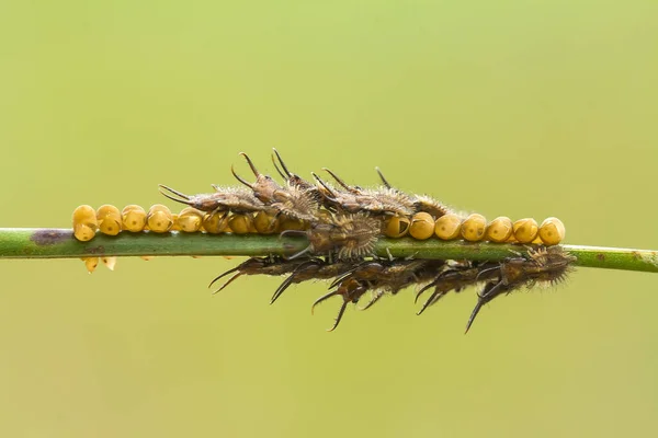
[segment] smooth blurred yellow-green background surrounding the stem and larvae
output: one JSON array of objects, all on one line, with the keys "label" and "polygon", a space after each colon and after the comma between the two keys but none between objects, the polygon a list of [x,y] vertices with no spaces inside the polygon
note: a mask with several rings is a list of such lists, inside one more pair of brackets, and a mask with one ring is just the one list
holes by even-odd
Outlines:
[{"label": "smooth blurred yellow-green background surrounding the stem and larvae", "polygon": [[[329,166],[567,242],[658,247],[658,3],[0,3],[0,227]],[[172,205],[172,203],[169,203]],[[0,434],[653,436],[658,276],[579,269],[421,318],[326,285],[207,283],[238,261],[0,262]]]}]

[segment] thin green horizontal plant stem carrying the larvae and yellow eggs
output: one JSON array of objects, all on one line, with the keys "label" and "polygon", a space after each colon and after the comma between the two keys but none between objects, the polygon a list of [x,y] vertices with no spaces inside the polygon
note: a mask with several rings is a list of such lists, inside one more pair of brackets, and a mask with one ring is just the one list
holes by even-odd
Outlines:
[{"label": "thin green horizontal plant stem carrying the larvae and yellow eggs", "polygon": [[[171,232],[122,232],[116,237],[98,233],[89,242],[79,242],[70,229],[0,228],[0,258],[79,258],[138,255],[291,255],[304,250],[304,238],[256,234],[206,234]],[[576,256],[576,266],[658,273],[658,251],[582,245],[563,245]],[[500,261],[527,250],[525,245],[469,243],[430,239],[381,239],[378,256]]]}]

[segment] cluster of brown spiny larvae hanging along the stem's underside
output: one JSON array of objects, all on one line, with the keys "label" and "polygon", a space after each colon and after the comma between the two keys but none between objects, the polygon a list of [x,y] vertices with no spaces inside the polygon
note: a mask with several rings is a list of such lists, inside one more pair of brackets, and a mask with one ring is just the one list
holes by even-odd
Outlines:
[{"label": "cluster of brown spiny larvae hanging along the stem's underside", "polygon": [[349,303],[359,303],[363,296],[371,291],[372,296],[359,310],[370,309],[385,295],[397,295],[408,287],[419,287],[415,301],[430,289],[431,296],[417,312],[422,314],[430,306],[435,304],[450,291],[460,292],[467,287],[484,285],[477,293],[477,302],[466,324],[466,332],[472,327],[483,306],[495,298],[510,293],[524,286],[533,287],[536,283],[554,285],[563,281],[575,257],[565,253],[560,246],[531,249],[529,256],[509,257],[502,262],[447,262],[442,260],[367,260],[359,263],[331,262],[327,258],[286,260],[283,257],[252,257],[231,268],[212,283],[234,274],[219,289],[223,290],[236,278],[243,275],[288,275],[276,288],[270,303],[273,303],[291,285],[307,280],[333,281],[329,292],[320,296],[311,304],[311,313],[316,306],[332,298],[341,297],[342,302],[329,332],[336,330]]}]

